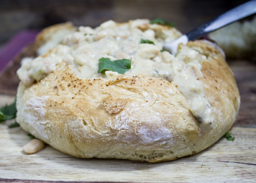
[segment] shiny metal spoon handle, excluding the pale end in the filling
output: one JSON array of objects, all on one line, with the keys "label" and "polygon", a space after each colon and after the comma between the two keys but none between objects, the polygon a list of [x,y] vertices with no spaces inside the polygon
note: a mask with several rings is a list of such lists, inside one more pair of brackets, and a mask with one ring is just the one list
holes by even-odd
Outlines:
[{"label": "shiny metal spoon handle, excluding the pale end in the filling", "polygon": [[240,6],[231,9],[222,15],[211,19],[210,21],[203,23],[198,28],[186,33],[188,40],[194,40],[209,32],[217,30],[223,26],[226,26],[234,21],[247,17],[256,13],[256,0],[248,1]]}]

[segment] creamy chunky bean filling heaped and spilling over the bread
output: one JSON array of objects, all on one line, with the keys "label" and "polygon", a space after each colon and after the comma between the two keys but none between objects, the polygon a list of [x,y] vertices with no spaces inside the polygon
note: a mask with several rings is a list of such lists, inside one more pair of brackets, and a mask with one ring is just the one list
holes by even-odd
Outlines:
[{"label": "creamy chunky bean filling heaped and spilling over the bread", "polygon": [[[25,86],[30,86],[56,70],[56,66],[64,61],[73,66],[80,78],[107,79],[118,73],[98,73],[100,58],[111,61],[129,59],[131,68],[126,73],[173,82],[189,100],[191,113],[199,122],[209,124],[214,121],[212,109],[205,97],[204,85],[198,80],[202,77],[201,63],[207,58],[186,46],[182,46],[176,57],[162,51],[163,43],[179,36],[181,33],[176,29],[163,29],[161,25],[149,24],[146,19],[125,24],[110,20],[95,29],[79,27],[46,55],[23,60],[17,74]],[[141,43],[141,39],[149,40],[151,44]]]}]

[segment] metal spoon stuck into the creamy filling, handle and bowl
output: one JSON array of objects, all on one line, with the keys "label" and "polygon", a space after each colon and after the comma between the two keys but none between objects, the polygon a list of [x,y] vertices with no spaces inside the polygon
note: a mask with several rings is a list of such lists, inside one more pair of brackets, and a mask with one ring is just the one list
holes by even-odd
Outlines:
[{"label": "metal spoon stuck into the creamy filling, handle and bowl", "polygon": [[180,43],[183,43],[185,45],[188,43],[188,41],[192,41],[209,32],[217,30],[234,21],[240,20],[254,13],[256,13],[256,0],[241,4],[240,6],[227,11],[226,13],[223,13],[222,15],[216,18],[213,18],[210,21],[203,23],[201,26],[193,29],[192,31],[186,33],[178,39],[164,44],[163,48],[164,50],[169,51],[171,52],[171,54],[175,55],[177,52],[178,45]]}]

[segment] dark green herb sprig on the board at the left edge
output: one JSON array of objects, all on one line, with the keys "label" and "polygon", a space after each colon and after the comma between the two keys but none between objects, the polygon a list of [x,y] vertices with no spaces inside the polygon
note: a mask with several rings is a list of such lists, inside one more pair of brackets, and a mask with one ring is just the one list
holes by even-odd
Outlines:
[{"label": "dark green herb sprig on the board at the left edge", "polygon": [[5,105],[3,107],[0,107],[0,122],[13,119],[16,117],[16,99],[15,101],[10,105]]}]

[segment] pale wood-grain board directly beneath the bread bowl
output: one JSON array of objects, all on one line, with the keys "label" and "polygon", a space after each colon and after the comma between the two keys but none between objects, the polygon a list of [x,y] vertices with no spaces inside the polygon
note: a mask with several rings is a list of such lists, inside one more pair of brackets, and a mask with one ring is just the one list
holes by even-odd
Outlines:
[{"label": "pale wood-grain board directly beneath the bread bowl", "polygon": [[0,181],[2,182],[255,182],[256,128],[235,127],[235,141],[222,137],[193,156],[162,163],[82,159],[50,146],[27,155],[30,141],[20,127],[0,124]]}]

